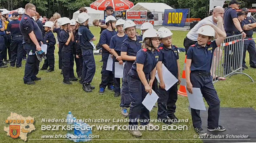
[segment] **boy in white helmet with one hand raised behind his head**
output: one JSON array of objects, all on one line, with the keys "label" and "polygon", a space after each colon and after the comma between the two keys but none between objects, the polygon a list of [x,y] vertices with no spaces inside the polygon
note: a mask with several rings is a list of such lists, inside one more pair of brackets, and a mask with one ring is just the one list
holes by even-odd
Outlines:
[{"label": "boy in white helmet with one hand raised behind his head", "polygon": [[[215,32],[218,38],[213,40]],[[226,33],[213,24],[206,24],[198,29],[197,43],[190,46],[187,51],[187,62],[185,66],[187,91],[193,93],[192,88],[200,88],[201,93],[209,105],[208,109],[208,131],[225,131],[220,126],[220,100],[212,83],[211,64],[213,51],[226,37]],[[213,40],[213,41],[211,41]],[[190,73],[191,71],[191,73]],[[200,110],[191,108],[192,123],[195,131],[200,135],[206,135],[201,127]]]}]

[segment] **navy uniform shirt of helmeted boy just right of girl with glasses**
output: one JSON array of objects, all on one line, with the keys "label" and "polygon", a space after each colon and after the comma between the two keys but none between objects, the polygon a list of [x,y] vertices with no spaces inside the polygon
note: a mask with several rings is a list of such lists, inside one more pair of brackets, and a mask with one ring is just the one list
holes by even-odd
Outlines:
[{"label": "navy uniform shirt of helmeted boy just right of girl with glasses", "polygon": [[159,46],[159,61],[162,61],[164,66],[178,78],[178,64],[177,60],[179,59],[178,48],[171,45],[171,48],[164,46]]}]

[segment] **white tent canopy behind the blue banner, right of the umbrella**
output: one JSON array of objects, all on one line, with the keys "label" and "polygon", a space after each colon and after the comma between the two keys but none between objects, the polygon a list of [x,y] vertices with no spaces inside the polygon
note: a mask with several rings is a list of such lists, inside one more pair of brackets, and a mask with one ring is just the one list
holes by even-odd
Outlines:
[{"label": "white tent canopy behind the blue banner, right of the umbrella", "polygon": [[163,15],[165,9],[173,9],[169,5],[165,3],[154,3],[154,2],[138,2],[128,11],[143,11],[147,10],[154,14],[154,25],[162,25],[163,23]]}]

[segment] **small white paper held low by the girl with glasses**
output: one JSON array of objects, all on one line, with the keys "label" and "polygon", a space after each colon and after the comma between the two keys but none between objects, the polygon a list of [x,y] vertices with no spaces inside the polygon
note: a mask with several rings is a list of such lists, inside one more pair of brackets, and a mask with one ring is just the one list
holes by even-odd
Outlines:
[{"label": "small white paper held low by the girl with glasses", "polygon": [[152,90],[152,94],[149,95],[149,93],[146,95],[145,99],[142,101],[142,104],[149,110],[149,112],[152,110],[153,106],[156,104],[156,101],[158,99],[158,95],[154,90]]}]

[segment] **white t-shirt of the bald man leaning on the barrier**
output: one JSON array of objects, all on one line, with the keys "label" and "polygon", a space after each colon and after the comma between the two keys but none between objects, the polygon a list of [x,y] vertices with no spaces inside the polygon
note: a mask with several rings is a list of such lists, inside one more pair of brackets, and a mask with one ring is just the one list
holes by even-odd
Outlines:
[{"label": "white t-shirt of the bald man leaning on the barrier", "polygon": [[192,41],[197,41],[197,30],[204,24],[213,24],[217,26],[217,23],[213,22],[213,16],[208,16],[201,21],[199,21],[191,30],[187,33],[187,38]]}]

